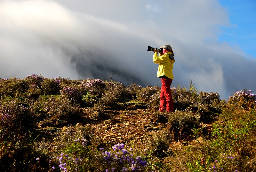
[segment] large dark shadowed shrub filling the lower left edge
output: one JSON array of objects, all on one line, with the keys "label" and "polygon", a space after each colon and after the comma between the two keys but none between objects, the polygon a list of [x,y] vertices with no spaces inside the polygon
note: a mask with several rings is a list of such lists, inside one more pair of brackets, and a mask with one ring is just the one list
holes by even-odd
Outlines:
[{"label": "large dark shadowed shrub filling the lower left edge", "polygon": [[0,169],[32,171],[36,155],[28,131],[33,126],[28,110],[15,101],[5,103],[0,104]]}]

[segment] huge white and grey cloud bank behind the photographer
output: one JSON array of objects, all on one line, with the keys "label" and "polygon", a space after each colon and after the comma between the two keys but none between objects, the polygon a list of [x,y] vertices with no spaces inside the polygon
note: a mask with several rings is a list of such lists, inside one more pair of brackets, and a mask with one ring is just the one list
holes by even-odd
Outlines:
[{"label": "huge white and grey cloud bank behind the photographer", "polygon": [[146,50],[170,44],[173,86],[193,80],[197,90],[221,98],[256,90],[256,59],[218,42],[219,28],[231,23],[217,0],[1,1],[0,19],[0,78],[113,74],[125,85],[161,86]]}]

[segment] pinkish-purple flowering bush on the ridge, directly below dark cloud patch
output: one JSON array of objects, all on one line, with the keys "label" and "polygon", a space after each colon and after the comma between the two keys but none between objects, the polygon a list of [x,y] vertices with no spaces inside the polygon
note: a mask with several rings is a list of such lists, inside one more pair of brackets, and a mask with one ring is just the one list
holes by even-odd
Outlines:
[{"label": "pinkish-purple flowering bush on the ridge, directly below dark cloud patch", "polygon": [[105,82],[100,79],[86,79],[81,81],[81,83],[82,87],[92,94],[101,94],[106,87]]}]

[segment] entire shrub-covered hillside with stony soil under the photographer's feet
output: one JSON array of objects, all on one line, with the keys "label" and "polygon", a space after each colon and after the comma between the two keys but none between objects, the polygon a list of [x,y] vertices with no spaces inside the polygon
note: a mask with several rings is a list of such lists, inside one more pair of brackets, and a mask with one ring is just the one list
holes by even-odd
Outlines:
[{"label": "entire shrub-covered hillside with stony soil under the photographer's feet", "polygon": [[[36,74],[1,79],[0,168],[256,169],[256,96],[251,90],[237,91],[227,102],[218,93],[198,92],[192,82],[171,90],[175,111],[160,113],[158,87]],[[62,153],[67,159],[60,160]]]}]

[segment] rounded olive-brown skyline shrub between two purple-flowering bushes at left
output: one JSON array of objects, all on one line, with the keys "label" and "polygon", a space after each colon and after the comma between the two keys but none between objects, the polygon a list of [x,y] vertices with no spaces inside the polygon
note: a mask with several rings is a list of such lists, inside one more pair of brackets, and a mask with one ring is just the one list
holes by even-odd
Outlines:
[{"label": "rounded olive-brown skyline shrub between two purple-flowering bushes at left", "polygon": [[44,79],[44,81],[41,83],[44,94],[60,94],[60,79],[61,77],[56,77],[55,79]]}]

